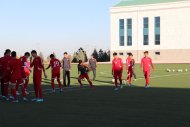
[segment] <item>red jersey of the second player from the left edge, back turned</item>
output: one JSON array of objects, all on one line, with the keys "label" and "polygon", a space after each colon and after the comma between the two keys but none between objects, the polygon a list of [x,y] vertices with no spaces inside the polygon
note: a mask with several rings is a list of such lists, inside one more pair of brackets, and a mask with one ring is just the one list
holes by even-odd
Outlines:
[{"label": "red jersey of the second player from the left edge, back turned", "polygon": [[11,72],[11,77],[14,79],[21,79],[22,62],[19,59],[12,59],[9,62],[8,69]]}]

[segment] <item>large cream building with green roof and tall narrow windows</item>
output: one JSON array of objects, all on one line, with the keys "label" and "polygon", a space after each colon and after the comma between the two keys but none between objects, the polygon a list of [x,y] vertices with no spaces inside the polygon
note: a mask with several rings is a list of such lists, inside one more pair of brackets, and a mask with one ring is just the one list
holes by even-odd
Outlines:
[{"label": "large cream building with green roof and tall narrow windows", "polygon": [[190,0],[123,0],[110,13],[111,53],[140,62],[148,50],[155,63],[190,63]]}]

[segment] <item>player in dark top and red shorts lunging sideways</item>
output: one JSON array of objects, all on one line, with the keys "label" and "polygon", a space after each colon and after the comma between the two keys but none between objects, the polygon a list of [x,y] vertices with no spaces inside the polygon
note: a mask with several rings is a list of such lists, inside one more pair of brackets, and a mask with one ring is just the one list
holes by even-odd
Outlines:
[{"label": "player in dark top and red shorts lunging sideways", "polygon": [[90,70],[90,68],[88,67],[88,65],[84,64],[82,62],[82,60],[79,60],[79,64],[78,64],[78,74],[80,72],[80,75],[78,77],[78,82],[80,84],[80,87],[82,88],[83,87],[83,84],[81,82],[81,80],[83,78],[86,78],[87,81],[89,82],[90,84],[90,87],[92,88],[93,87],[93,84],[92,84],[92,81],[90,80],[89,76],[88,76],[88,71]]}]

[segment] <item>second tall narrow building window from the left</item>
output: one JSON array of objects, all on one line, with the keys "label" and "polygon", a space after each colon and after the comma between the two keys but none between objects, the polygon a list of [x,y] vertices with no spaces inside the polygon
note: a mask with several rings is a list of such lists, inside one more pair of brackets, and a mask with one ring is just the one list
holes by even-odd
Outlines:
[{"label": "second tall narrow building window from the left", "polygon": [[132,19],[127,19],[127,46],[132,46]]}]

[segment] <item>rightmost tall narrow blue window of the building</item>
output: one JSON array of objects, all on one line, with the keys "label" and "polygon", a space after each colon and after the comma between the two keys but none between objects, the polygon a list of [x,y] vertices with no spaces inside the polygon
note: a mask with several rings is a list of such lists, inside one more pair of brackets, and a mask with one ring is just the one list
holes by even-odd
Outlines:
[{"label": "rightmost tall narrow blue window of the building", "polygon": [[160,17],[155,17],[155,45],[160,45]]}]

